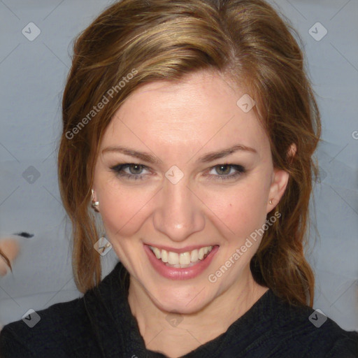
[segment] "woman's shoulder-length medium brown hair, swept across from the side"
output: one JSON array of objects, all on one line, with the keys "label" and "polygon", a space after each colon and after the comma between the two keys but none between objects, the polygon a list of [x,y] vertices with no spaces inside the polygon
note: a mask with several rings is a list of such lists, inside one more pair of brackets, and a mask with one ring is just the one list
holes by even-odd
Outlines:
[{"label": "woman's shoulder-length medium brown hair, swept across from the side", "polygon": [[[250,262],[252,275],[285,301],[312,306],[314,275],[303,248],[320,113],[295,37],[262,0],[122,0],[78,36],[64,90],[58,173],[73,224],[73,273],[80,291],[101,280],[100,256],[93,248],[99,236],[89,203],[103,131],[139,85],[207,70],[227,75],[255,99],[273,164],[289,173],[275,207],[282,216],[265,231]],[[134,70],[136,76],[119,87]],[[103,96],[109,102],[91,112]],[[287,155],[292,143],[294,157]]]}]

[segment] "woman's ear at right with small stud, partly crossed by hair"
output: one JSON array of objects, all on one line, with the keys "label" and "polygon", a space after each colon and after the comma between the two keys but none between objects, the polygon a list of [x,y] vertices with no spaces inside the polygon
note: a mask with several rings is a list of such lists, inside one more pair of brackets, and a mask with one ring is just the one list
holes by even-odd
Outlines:
[{"label": "woman's ear at right with small stud, partly crossed by hair", "polygon": [[[287,159],[289,159],[289,161],[296,154],[296,150],[296,145],[292,143],[292,145],[289,146],[289,150],[287,151]],[[283,169],[273,169],[266,213],[269,213],[271,210],[273,210],[273,208],[275,208],[275,206],[280,202],[282,195],[285,193],[288,180],[289,173],[287,173],[287,171],[284,171]],[[272,203],[269,203],[270,200]]]}]

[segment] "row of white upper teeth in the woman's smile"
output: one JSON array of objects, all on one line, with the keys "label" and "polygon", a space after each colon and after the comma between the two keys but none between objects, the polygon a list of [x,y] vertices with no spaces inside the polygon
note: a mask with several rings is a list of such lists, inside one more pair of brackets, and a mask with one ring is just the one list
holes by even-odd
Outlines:
[{"label": "row of white upper teeth in the woman's smile", "polygon": [[177,252],[154,248],[153,246],[150,246],[150,250],[154,252],[157,259],[162,259],[162,262],[168,262],[171,265],[189,265],[190,263],[202,260],[206,254],[213,250],[213,246],[206,246],[204,248],[200,248],[199,250],[195,249],[192,251],[181,252],[180,254]]}]

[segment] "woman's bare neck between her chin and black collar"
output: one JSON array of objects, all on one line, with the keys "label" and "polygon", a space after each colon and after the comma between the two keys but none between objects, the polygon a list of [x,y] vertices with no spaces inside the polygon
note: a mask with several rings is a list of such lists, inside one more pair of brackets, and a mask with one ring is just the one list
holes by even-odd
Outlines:
[{"label": "woman's bare neck between her chin and black collar", "polygon": [[131,278],[129,306],[146,348],[176,358],[226,332],[268,290],[255,282],[250,268],[248,271],[243,275],[245,280],[231,285],[199,312],[189,315],[168,313],[158,308],[143,286]]}]

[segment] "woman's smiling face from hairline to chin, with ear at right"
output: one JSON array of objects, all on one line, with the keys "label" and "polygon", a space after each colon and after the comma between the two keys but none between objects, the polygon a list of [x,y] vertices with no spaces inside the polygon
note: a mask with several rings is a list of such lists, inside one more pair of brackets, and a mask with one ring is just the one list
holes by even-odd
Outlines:
[{"label": "woman's smiling face from hairline to chin, with ear at right", "polygon": [[150,83],[101,141],[93,188],[106,236],[131,285],[163,310],[196,312],[252,278],[255,230],[288,175],[273,169],[244,94],[209,72]]}]

